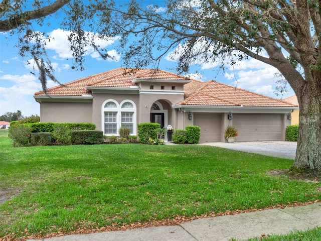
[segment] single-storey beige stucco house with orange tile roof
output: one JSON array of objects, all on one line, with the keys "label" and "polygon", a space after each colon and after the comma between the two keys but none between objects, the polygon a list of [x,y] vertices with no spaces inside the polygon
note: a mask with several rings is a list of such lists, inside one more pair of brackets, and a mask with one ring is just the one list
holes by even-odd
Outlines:
[{"label": "single-storey beige stucco house with orange tile roof", "polygon": [[236,127],[237,141],[285,140],[298,106],[229,86],[202,82],[159,69],[117,68],[36,92],[41,122],[90,122],[104,135],[121,127],[137,134],[140,123],[201,128],[200,142],[225,142]]}]

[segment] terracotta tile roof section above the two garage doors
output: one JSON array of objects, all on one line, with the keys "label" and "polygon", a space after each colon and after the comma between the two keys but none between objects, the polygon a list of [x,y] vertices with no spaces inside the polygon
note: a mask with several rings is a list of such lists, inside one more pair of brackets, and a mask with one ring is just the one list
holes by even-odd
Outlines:
[{"label": "terracotta tile roof section above the two garage doors", "polygon": [[229,105],[229,106],[294,106],[280,99],[236,88],[214,80],[192,80],[184,85],[185,99],[176,105]]}]

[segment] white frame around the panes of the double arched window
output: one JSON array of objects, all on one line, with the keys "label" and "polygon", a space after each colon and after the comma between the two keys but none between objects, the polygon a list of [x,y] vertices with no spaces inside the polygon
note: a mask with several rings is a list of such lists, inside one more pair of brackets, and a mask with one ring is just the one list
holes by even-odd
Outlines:
[{"label": "white frame around the panes of the double arched window", "polygon": [[[105,108],[105,104],[108,102],[113,102],[116,104],[116,108]],[[132,104],[132,108],[121,108],[121,106],[126,103],[129,102]],[[116,121],[117,121],[117,134],[105,134],[105,112],[117,112],[116,115]],[[130,100],[130,99],[125,99],[123,101],[121,101],[120,103],[118,103],[116,100],[114,99],[107,99],[102,103],[101,106],[101,129],[104,133],[104,135],[106,136],[119,136],[118,130],[119,128],[121,128],[121,113],[122,112],[131,112],[132,113],[132,119],[133,119],[133,133],[130,135],[137,135],[137,118],[136,118],[136,105],[135,103]]]}]

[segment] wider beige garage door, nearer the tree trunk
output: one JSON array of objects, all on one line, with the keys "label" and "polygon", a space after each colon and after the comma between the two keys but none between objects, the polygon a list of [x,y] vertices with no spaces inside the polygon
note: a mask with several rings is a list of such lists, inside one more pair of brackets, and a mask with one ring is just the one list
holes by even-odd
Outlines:
[{"label": "wider beige garage door, nearer the tree trunk", "polygon": [[283,114],[233,114],[236,141],[282,141]]}]

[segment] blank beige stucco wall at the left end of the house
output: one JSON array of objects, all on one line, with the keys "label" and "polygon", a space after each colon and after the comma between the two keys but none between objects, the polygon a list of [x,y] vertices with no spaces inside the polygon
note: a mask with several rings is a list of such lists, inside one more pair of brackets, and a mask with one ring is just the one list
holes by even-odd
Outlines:
[{"label": "blank beige stucco wall at the left end of the house", "polygon": [[40,122],[92,123],[92,103],[42,102]]}]

